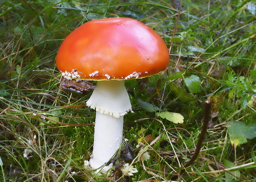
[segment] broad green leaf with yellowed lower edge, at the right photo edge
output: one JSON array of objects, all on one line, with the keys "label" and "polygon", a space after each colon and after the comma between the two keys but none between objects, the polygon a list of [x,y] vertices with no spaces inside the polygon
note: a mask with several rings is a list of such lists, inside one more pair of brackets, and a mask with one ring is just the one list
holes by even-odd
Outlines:
[{"label": "broad green leaf with yellowed lower edge, at the right photo edge", "polygon": [[247,139],[256,137],[255,123],[246,125],[241,121],[230,121],[227,124],[227,129],[231,144],[234,146],[239,146],[240,144],[246,143]]}]

